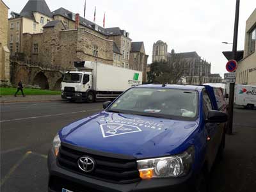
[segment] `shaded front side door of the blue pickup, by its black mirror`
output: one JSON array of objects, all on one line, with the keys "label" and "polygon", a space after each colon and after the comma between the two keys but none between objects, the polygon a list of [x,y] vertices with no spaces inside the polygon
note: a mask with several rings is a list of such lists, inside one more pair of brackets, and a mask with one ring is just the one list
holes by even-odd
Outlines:
[{"label": "shaded front side door of the blue pickup, by its black mirror", "polygon": [[[209,93],[204,90],[203,92],[203,104],[204,104],[204,116],[205,119],[207,118],[209,110],[213,109],[212,101],[209,97]],[[205,124],[205,131],[207,132],[207,136],[209,140],[207,140],[207,152],[206,152],[206,159],[211,169],[212,164],[214,163],[214,159],[218,153],[218,148],[221,143],[221,126],[220,124],[216,123],[207,123]]]}]

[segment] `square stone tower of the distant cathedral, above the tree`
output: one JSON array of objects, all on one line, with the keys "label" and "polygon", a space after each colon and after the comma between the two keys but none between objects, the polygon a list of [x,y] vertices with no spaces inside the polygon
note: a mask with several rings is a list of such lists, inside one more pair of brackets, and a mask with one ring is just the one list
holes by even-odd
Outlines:
[{"label": "square stone tower of the distant cathedral, above the tree", "polygon": [[152,63],[167,61],[167,44],[159,40],[153,45]]}]

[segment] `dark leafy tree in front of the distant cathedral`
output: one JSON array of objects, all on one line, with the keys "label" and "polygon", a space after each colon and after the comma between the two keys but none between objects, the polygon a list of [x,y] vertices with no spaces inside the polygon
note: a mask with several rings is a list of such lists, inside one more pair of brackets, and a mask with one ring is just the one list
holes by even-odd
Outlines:
[{"label": "dark leafy tree in front of the distant cathedral", "polygon": [[187,61],[173,50],[167,62],[152,63],[148,72],[148,83],[177,84],[185,75]]}]

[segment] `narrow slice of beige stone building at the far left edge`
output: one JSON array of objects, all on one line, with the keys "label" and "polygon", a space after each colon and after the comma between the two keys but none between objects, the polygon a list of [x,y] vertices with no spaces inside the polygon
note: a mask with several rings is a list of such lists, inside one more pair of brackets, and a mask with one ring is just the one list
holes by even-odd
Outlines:
[{"label": "narrow slice of beige stone building at the far left edge", "polygon": [[8,50],[8,6],[0,0],[0,81],[10,81],[10,52]]}]

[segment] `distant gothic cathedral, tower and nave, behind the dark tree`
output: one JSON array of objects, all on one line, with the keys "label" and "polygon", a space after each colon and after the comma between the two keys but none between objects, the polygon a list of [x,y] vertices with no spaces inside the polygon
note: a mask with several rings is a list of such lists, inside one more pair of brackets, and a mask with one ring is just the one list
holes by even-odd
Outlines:
[{"label": "distant gothic cathedral, tower and nave, behind the dark tree", "polygon": [[[180,60],[186,61],[186,70],[184,71],[184,79],[186,84],[203,84],[203,83],[221,83],[220,74],[211,75],[211,63],[202,60],[198,54],[193,52],[175,53],[167,51],[168,45],[159,40],[153,45],[152,63],[154,62],[170,62],[172,55],[175,54]],[[215,77],[218,75],[218,77]]]}]

